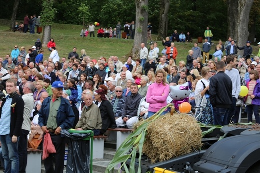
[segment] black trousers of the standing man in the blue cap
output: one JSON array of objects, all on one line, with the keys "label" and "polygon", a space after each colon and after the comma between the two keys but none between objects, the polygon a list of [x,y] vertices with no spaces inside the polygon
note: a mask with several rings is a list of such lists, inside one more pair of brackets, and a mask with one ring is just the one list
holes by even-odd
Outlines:
[{"label": "black trousers of the standing man in the blue cap", "polygon": [[[64,157],[65,157],[65,138],[49,132],[53,145],[55,146],[56,153],[50,154],[44,160],[46,173],[63,173],[64,170]],[[55,169],[53,166],[55,162]]]}]

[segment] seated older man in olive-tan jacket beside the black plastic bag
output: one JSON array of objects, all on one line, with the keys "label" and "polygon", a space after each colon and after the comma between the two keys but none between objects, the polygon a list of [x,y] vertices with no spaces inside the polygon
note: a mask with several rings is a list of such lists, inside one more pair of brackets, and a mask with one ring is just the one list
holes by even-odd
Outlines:
[{"label": "seated older man in olive-tan jacket beside the black plastic bag", "polygon": [[76,130],[93,130],[94,135],[99,135],[102,128],[102,118],[98,106],[93,104],[93,94],[87,92],[83,99],[85,106],[82,109],[81,118],[76,124]]}]

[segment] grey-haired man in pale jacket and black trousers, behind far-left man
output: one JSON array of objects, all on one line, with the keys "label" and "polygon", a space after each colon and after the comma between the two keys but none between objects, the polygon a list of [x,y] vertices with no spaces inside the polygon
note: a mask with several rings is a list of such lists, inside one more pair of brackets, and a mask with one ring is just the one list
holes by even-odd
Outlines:
[{"label": "grey-haired man in pale jacket and black trousers, behind far-left man", "polygon": [[30,132],[30,114],[33,109],[34,99],[33,99],[33,92],[34,92],[34,84],[30,81],[27,81],[23,87],[22,99],[24,101],[24,112],[23,112],[23,123],[21,127],[21,135],[18,145],[18,152],[19,152],[19,160],[20,160],[20,168],[19,172],[26,172],[27,166],[27,145],[28,145],[28,134]]}]

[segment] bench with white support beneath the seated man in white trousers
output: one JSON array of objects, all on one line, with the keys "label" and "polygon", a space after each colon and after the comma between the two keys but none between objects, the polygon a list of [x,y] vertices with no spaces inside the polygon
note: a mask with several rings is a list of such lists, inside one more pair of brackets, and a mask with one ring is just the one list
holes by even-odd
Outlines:
[{"label": "bench with white support beneath the seated man in white trousers", "polygon": [[131,134],[132,129],[127,128],[108,128],[110,131],[108,140],[116,140],[116,150],[121,146],[124,140]]}]

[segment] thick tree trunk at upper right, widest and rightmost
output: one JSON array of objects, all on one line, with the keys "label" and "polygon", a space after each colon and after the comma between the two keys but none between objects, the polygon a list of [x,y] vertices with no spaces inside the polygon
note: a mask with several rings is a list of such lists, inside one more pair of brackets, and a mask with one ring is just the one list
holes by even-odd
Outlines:
[{"label": "thick tree trunk at upper right, widest and rightmost", "polygon": [[[228,34],[237,41],[239,47],[244,46],[248,36],[249,14],[253,0],[227,0]],[[238,51],[243,55],[243,51]]]}]

